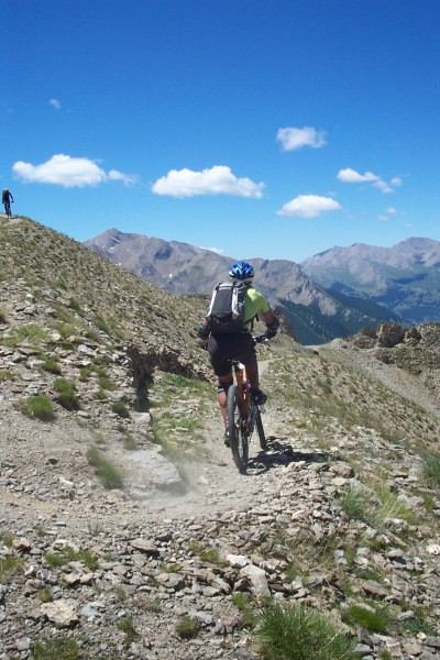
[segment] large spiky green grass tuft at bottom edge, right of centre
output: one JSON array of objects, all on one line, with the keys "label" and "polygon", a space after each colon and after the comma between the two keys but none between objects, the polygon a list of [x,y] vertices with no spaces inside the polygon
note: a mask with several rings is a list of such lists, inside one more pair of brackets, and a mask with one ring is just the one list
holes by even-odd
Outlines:
[{"label": "large spiky green grass tuft at bottom edge, right of centre", "polygon": [[318,610],[270,602],[254,631],[267,660],[355,660],[356,642]]}]

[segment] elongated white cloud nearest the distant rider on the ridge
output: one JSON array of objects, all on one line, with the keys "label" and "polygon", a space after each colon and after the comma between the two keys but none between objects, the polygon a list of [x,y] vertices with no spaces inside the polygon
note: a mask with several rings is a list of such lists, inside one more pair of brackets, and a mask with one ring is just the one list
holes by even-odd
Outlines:
[{"label": "elongated white cloud nearest the distant rider on the ridge", "polygon": [[46,163],[32,165],[18,161],[13,164],[14,175],[26,184],[54,184],[65,188],[98,186],[106,182],[120,180],[125,185],[134,184],[135,176],[111,169],[108,174],[89,158],[77,158],[55,154]]}]

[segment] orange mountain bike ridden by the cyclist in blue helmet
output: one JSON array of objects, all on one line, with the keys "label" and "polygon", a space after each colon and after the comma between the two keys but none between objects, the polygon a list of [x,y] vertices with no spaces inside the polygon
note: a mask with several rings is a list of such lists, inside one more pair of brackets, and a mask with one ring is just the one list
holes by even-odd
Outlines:
[{"label": "orange mountain bike ridden by the cyclist in blue helmet", "polygon": [[[270,338],[266,333],[263,333],[256,334],[252,339],[256,344],[267,341]],[[244,364],[238,360],[231,360],[230,363],[235,374],[235,383],[228,389],[227,428],[234,463],[241,474],[245,474],[249,460],[249,442],[254,429],[256,429],[258,436],[260,447],[263,451],[267,449],[261,418],[264,406],[256,404],[251,396],[251,384]]]}]

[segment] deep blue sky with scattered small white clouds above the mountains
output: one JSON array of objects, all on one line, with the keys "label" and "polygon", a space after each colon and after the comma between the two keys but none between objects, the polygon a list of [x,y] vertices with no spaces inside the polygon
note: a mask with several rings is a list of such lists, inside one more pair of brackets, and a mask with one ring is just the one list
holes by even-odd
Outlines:
[{"label": "deep blue sky with scattered small white clouds above the mountains", "polygon": [[439,0],[1,7],[16,213],[237,258],[440,240]]}]

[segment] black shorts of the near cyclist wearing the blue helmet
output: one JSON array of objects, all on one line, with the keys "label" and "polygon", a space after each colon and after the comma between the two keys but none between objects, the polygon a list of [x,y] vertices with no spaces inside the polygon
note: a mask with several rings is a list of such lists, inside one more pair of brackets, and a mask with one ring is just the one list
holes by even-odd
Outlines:
[{"label": "black shorts of the near cyclist wearing the blue helmet", "polygon": [[255,355],[255,348],[248,332],[216,334],[209,338],[208,353],[216,376],[227,376],[231,371],[229,360],[246,364]]}]

